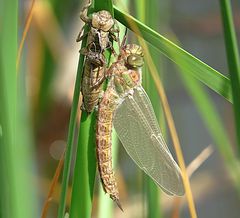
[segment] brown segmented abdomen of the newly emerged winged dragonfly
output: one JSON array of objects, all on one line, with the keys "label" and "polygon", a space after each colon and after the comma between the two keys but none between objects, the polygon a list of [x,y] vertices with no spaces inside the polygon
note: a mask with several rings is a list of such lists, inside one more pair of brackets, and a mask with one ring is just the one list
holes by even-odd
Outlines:
[{"label": "brown segmented abdomen of the newly emerged winged dragonfly", "polygon": [[99,104],[97,118],[97,158],[103,189],[122,209],[119,202],[117,182],[112,168],[112,124],[116,109],[116,95],[113,89],[107,89]]}]

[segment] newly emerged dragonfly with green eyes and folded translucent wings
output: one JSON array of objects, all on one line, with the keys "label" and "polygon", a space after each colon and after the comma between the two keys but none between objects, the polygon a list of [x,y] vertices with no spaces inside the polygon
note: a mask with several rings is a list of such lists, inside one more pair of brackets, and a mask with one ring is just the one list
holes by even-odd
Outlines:
[{"label": "newly emerged dragonfly with green eyes and folded translucent wings", "polygon": [[180,168],[173,159],[159,128],[152,104],[142,83],[143,50],[127,44],[108,74],[108,87],[99,104],[97,117],[97,158],[103,189],[120,209],[117,182],[112,169],[114,126],[126,152],[168,195],[184,195]]}]

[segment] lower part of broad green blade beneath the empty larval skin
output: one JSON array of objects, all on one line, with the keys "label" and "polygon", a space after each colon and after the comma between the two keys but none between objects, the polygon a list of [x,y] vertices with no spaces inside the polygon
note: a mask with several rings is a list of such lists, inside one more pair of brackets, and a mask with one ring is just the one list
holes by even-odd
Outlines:
[{"label": "lower part of broad green blade beneath the empty larval skin", "polygon": [[73,176],[70,218],[90,218],[96,173],[96,114],[82,113]]}]

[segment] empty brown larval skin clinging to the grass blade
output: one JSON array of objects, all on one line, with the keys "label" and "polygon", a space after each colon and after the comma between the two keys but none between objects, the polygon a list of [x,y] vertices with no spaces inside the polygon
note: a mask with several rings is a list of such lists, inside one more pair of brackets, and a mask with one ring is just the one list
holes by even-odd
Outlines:
[{"label": "empty brown larval skin clinging to the grass blade", "polygon": [[80,18],[89,27],[89,31],[83,33],[84,27],[78,34],[77,42],[87,37],[86,47],[80,50],[85,55],[85,67],[82,78],[82,109],[91,113],[97,106],[101,93],[102,85],[106,79],[106,58],[104,52],[113,49],[112,41],[119,41],[119,27],[106,10],[95,12],[89,17],[87,11],[92,4],[92,0],[83,7]]}]

